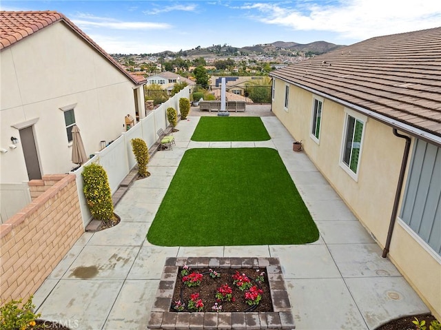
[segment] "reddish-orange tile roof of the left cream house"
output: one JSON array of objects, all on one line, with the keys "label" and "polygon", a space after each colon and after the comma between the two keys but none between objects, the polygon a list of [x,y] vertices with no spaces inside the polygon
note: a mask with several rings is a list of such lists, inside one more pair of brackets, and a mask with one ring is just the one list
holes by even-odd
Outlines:
[{"label": "reddish-orange tile roof of the left cream house", "polygon": [[6,12],[0,11],[0,50],[9,48],[25,39],[30,35],[39,32],[46,26],[57,22],[63,22],[70,27],[74,32],[79,34],[86,42],[99,52],[105,59],[112,62],[119,70],[125,74],[134,83],[141,84],[145,82],[143,77],[132,76],[130,72],[127,72],[118,62],[116,62],[112,56],[107,54],[103,48],[96,44],[87,34],[81,31],[72,21],[59,12],[54,11],[41,11],[41,12]]}]

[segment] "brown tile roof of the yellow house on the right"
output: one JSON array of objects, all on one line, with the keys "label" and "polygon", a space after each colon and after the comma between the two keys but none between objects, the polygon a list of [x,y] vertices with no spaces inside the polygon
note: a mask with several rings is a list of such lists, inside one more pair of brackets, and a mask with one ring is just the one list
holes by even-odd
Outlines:
[{"label": "brown tile roof of the yellow house on the right", "polygon": [[367,39],[270,76],[441,143],[441,28]]}]

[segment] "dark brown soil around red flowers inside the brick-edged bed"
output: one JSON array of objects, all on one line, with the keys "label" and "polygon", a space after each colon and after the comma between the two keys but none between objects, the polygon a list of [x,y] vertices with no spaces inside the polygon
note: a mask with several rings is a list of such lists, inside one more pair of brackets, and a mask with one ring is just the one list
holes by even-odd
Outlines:
[{"label": "dark brown soil around red flowers inside the brick-edged bed", "polygon": [[[250,268],[240,268],[240,269],[216,269],[213,268],[214,271],[217,271],[220,274],[218,278],[212,278],[209,276],[209,269],[190,269],[190,273],[192,271],[196,271],[197,273],[203,274],[203,278],[201,280],[201,285],[197,287],[187,287],[187,285],[183,282],[183,276],[181,275],[182,268],[179,268],[178,272],[178,280],[176,280],[176,286],[174,288],[173,298],[172,298],[172,306],[170,306],[170,311],[179,312],[173,308],[174,302],[177,300],[181,300],[185,303],[185,308],[182,312],[194,312],[195,310],[187,309],[188,301],[190,300],[190,295],[192,293],[199,293],[199,298],[202,299],[204,308],[203,311],[209,312],[214,311],[212,306],[217,302],[218,305],[222,305],[223,312],[225,311],[273,311],[273,306],[271,302],[271,293],[269,291],[269,282],[267,278],[266,268],[260,269],[250,269]],[[246,274],[252,285],[256,285],[258,288],[263,290],[262,299],[260,300],[258,305],[249,306],[245,300],[245,291],[240,291],[240,289],[233,285],[232,276],[238,271],[240,274]],[[263,282],[257,282],[255,280],[256,276],[258,276],[262,271],[265,271],[265,280]],[[229,285],[232,288],[232,296],[234,301],[217,301],[216,300],[216,292],[217,289],[223,284]]]}]

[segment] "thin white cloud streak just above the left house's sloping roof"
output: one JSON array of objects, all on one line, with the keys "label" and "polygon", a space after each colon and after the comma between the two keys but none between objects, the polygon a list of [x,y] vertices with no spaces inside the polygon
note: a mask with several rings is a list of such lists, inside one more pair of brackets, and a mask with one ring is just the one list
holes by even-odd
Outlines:
[{"label": "thin white cloud streak just above the left house's sloping roof", "polygon": [[109,28],[114,30],[164,30],[171,28],[168,23],[119,21],[106,17],[77,13],[71,19],[80,28]]}]

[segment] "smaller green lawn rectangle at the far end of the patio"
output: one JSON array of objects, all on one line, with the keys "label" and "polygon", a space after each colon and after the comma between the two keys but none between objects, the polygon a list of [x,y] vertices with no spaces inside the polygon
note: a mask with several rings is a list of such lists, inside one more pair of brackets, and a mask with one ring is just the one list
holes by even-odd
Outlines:
[{"label": "smaller green lawn rectangle at the far end of the patio", "polygon": [[192,141],[267,141],[260,117],[201,117]]}]

